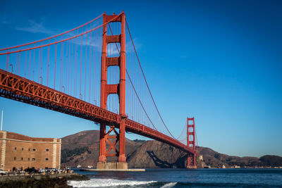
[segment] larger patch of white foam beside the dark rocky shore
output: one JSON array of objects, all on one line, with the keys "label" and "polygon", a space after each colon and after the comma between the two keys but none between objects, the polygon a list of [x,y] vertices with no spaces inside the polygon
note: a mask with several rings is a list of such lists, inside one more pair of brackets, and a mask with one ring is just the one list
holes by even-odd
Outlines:
[{"label": "larger patch of white foam beside the dark rocky shore", "polygon": [[156,181],[134,181],[134,180],[115,180],[115,179],[90,179],[86,181],[68,180],[68,185],[73,187],[116,187],[121,185],[135,186],[139,184],[151,184]]}]

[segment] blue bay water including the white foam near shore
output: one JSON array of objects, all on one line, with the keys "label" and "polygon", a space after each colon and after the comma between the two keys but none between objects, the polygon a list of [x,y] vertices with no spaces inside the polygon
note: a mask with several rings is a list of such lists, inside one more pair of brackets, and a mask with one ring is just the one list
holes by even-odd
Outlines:
[{"label": "blue bay water including the white foam near shore", "polygon": [[282,169],[146,169],[145,172],[89,172],[73,187],[282,187]]}]

